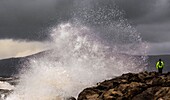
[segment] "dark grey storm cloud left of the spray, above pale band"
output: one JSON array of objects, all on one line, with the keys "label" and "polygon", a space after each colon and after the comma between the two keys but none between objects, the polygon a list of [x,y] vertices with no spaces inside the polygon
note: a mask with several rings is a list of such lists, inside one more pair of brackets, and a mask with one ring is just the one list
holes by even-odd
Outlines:
[{"label": "dark grey storm cloud left of the spray, above pale band", "polygon": [[59,18],[68,19],[70,0],[1,0],[0,38],[43,40]]}]

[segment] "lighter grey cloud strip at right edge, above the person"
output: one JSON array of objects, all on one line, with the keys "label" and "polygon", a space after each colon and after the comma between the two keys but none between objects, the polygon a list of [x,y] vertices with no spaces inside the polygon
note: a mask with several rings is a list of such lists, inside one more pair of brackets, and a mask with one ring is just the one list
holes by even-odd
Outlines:
[{"label": "lighter grey cloud strip at right edge, above the person", "polygon": [[170,42],[170,21],[158,24],[141,24],[136,29],[145,41],[152,43]]}]

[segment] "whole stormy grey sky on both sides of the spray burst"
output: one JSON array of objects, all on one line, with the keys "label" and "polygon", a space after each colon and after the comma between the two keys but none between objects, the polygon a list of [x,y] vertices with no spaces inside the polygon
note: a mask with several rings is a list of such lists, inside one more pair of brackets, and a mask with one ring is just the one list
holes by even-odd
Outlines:
[{"label": "whole stormy grey sky on both sides of the spray burst", "polygon": [[[22,40],[30,44],[35,41],[43,43],[49,38],[50,27],[72,18],[72,12],[76,11],[76,7],[80,7],[78,1],[0,0],[0,42],[18,44],[20,42],[13,41]],[[112,0],[102,2],[110,1]],[[115,3],[123,12],[124,18],[141,33],[143,41],[151,45],[149,54],[170,54],[170,0],[115,0]],[[84,5],[88,6],[86,3]],[[26,42],[22,45],[25,45],[24,43]],[[36,46],[34,44],[26,47],[29,49]],[[40,47],[37,46],[38,48]],[[4,52],[1,52],[1,55]],[[16,52],[14,54],[16,55]]]}]

